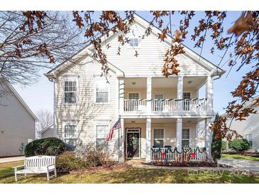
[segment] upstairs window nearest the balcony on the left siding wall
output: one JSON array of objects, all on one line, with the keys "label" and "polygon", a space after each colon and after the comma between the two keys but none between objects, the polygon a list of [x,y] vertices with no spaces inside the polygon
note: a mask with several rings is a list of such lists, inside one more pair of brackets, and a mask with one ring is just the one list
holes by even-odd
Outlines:
[{"label": "upstairs window nearest the balcony on the left siding wall", "polygon": [[99,79],[95,81],[95,102],[105,103],[109,102],[109,83],[105,79]]}]

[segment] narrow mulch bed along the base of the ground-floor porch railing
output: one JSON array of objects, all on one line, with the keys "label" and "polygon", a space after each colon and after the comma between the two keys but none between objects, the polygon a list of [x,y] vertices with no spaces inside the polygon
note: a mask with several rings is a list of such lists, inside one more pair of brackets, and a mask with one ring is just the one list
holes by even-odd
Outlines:
[{"label": "narrow mulch bed along the base of the ground-floor porch railing", "polygon": [[148,165],[155,165],[155,166],[161,166],[161,167],[217,167],[217,164],[214,162],[169,162],[168,164],[165,164],[164,162],[149,162],[143,164]]}]

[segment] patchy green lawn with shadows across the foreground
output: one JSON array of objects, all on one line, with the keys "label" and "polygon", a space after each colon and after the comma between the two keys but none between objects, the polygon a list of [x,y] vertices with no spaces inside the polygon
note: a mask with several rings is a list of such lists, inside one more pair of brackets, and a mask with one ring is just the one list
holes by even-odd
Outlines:
[{"label": "patchy green lawn with shadows across the foreground", "polygon": [[[12,166],[21,162],[0,164],[0,183],[15,183]],[[211,174],[208,171],[188,173],[187,170],[120,168],[115,170],[96,170],[77,174],[57,174],[57,178],[48,182],[45,174],[20,178],[18,183],[259,183],[259,176],[232,176],[228,172]]]}]

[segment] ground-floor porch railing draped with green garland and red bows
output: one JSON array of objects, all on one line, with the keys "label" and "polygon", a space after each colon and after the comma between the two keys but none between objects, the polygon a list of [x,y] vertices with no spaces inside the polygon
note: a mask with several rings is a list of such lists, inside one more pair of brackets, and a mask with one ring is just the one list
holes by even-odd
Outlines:
[{"label": "ground-floor porch railing draped with green garland and red bows", "polygon": [[161,161],[164,162],[197,162],[197,161],[211,161],[210,152],[199,149],[182,149],[182,152],[177,152],[175,149],[168,148],[152,148],[151,149],[151,161]]}]

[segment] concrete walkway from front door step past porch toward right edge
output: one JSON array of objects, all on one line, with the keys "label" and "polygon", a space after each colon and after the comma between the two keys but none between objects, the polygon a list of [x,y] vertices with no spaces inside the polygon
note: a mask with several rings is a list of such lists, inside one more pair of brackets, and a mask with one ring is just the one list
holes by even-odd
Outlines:
[{"label": "concrete walkway from front door step past porch toward right edge", "polygon": [[[192,171],[226,171],[226,172],[246,172],[247,174],[259,174],[259,167],[258,169],[250,169],[250,167],[163,167],[163,166],[155,166],[155,165],[148,165],[143,164],[145,162],[142,159],[136,160],[129,160],[126,163],[137,168],[145,168],[145,169],[170,169],[170,170],[192,170]],[[223,164],[223,163],[221,163]],[[230,164],[225,164],[231,166]]]}]

